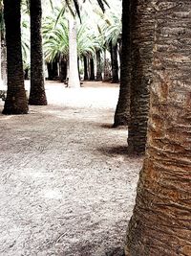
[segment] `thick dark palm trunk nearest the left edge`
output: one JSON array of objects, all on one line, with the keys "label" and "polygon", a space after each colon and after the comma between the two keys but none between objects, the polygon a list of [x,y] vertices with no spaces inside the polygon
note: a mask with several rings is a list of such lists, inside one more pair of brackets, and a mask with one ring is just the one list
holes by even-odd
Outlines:
[{"label": "thick dark palm trunk nearest the left edge", "polygon": [[27,114],[21,51],[20,0],[4,0],[6,23],[8,92],[3,114]]}]

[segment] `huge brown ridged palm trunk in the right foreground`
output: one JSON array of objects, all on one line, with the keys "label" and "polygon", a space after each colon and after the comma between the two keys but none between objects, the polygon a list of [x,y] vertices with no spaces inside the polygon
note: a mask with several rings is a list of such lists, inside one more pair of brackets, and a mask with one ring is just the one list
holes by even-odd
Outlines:
[{"label": "huge brown ridged palm trunk in the right foreground", "polygon": [[191,255],[191,2],[156,4],[146,159],[127,256]]}]

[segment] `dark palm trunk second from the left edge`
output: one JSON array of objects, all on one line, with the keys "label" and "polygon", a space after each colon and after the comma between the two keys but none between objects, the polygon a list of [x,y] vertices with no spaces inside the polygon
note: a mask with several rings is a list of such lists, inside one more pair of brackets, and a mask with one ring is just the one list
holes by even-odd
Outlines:
[{"label": "dark palm trunk second from the left edge", "polygon": [[47,105],[44,85],[41,36],[41,0],[30,1],[31,13],[31,91],[30,105]]}]

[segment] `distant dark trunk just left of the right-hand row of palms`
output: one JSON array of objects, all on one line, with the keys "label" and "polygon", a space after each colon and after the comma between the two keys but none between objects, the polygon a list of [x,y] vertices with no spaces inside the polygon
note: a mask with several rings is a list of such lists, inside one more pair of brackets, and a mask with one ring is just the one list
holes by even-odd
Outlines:
[{"label": "distant dark trunk just left of the right-hand row of palms", "polygon": [[112,57],[112,82],[118,82],[118,59],[117,59],[117,44],[111,44],[111,57]]}]

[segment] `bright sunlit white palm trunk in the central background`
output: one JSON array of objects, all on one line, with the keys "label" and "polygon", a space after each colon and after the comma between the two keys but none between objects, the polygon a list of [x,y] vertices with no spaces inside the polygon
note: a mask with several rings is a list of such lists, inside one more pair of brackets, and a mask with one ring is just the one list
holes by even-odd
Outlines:
[{"label": "bright sunlit white palm trunk in the central background", "polygon": [[69,83],[71,88],[79,88],[79,73],[77,67],[77,41],[76,41],[76,21],[71,15],[69,19]]}]

